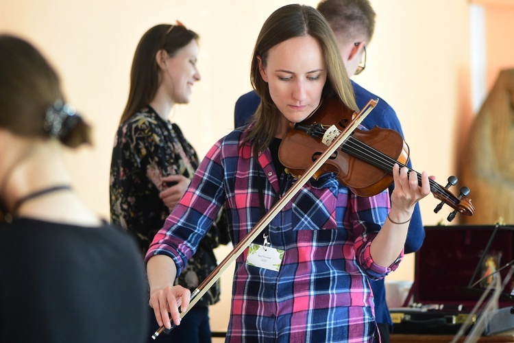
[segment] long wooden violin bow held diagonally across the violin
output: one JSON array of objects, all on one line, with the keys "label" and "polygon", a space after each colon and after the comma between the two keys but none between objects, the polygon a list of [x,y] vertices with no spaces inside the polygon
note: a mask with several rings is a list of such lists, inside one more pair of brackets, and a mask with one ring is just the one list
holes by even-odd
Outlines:
[{"label": "long wooden violin bow held diagonally across the violin", "polygon": [[[185,311],[182,311],[180,313],[180,319],[184,318],[186,314],[188,313],[189,309],[191,309],[195,304],[198,302],[198,300],[206,294],[208,289],[214,285],[214,283],[221,277],[221,274],[227,270],[227,268],[230,266],[232,262],[234,262],[239,255],[243,253],[243,251],[252,244],[252,241],[258,237],[260,233],[262,233],[262,230],[273,220],[274,217],[286,206],[286,204],[295,196],[295,194],[307,183],[307,181],[316,173],[316,171],[325,163],[328,158],[340,147],[340,145],[345,141],[352,132],[356,128],[358,128],[358,125],[364,120],[364,118],[369,115],[371,110],[373,110],[378,102],[377,100],[371,99],[369,102],[364,106],[362,110],[360,110],[360,113],[356,115],[356,117],[352,120],[352,123],[345,128],[343,132],[341,132],[337,137],[335,137],[334,141],[328,146],[328,149],[323,152],[319,156],[319,158],[305,171],[305,173],[298,178],[298,180],[293,184],[293,186],[282,196],[276,204],[271,207],[271,209],[261,218],[261,220],[252,228],[252,230],[249,230],[247,235],[239,241],[239,243],[234,247],[232,252],[230,252],[221,263],[215,268],[215,270],[212,270],[212,272],[207,276],[207,278],[191,293],[191,300],[189,301],[189,306]],[[333,138],[333,137],[332,137]],[[158,335],[160,335],[162,332],[169,333],[173,328],[175,327],[175,324],[173,322],[171,323],[171,328],[166,329],[166,327],[162,326],[160,327],[154,335],[151,336],[152,339],[156,339]]]}]

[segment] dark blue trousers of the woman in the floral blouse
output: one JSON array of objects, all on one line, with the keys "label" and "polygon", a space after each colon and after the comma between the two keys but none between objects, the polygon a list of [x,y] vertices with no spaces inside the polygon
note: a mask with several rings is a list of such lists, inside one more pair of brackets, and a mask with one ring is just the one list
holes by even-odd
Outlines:
[{"label": "dark blue trousers of the woman in the floral blouse", "polygon": [[173,328],[170,333],[161,333],[156,340],[151,339],[158,329],[156,315],[154,309],[149,307],[150,314],[150,331],[148,334],[148,342],[166,342],[166,343],[210,343],[211,333],[209,324],[209,308],[193,306],[182,318],[180,325]]}]

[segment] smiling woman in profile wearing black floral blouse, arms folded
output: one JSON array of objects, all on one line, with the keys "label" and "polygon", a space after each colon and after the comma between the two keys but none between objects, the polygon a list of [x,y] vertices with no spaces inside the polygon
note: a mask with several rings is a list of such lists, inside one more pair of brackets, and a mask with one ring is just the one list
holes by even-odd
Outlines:
[{"label": "smiling woman in profile wearing black floral blouse, arms folded", "polygon": [[[175,104],[187,104],[192,86],[200,80],[196,67],[199,36],[177,25],[156,25],[141,38],[130,79],[130,93],[121,116],[110,169],[112,224],[134,234],[142,255],[162,228],[189,185],[199,161],[180,128],[169,121]],[[221,232],[220,232],[221,230]],[[212,251],[230,241],[223,211],[202,239],[188,267],[175,280],[195,289],[217,262]],[[162,342],[210,342],[208,305],[219,300],[219,284],[199,300],[177,329],[161,335]],[[151,333],[158,329],[150,309]]]}]

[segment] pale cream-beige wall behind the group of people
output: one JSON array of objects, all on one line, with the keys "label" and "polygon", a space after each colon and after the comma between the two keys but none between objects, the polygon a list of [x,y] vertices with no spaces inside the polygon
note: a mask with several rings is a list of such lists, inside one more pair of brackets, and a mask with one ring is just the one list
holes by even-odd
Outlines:
[{"label": "pale cream-beige wall behind the group of people", "polygon": [[[368,48],[366,71],[354,80],[395,108],[415,169],[428,171],[445,185],[455,173],[458,142],[472,117],[468,1],[371,2],[378,15],[376,34]],[[234,102],[250,89],[249,58],[260,25],[286,3],[2,0],[0,31],[24,36],[40,47],[60,72],[71,104],[93,124],[95,147],[83,148],[69,161],[77,192],[107,218],[112,141],[140,36],[153,25],[175,19],[201,35],[202,80],[195,85],[191,104],[175,106],[172,120],[203,156],[232,129]],[[424,224],[437,224],[450,212],[446,206],[433,213],[437,203],[432,196],[421,202]],[[227,251],[219,250],[220,260]],[[412,280],[413,260],[408,256],[388,277]],[[223,331],[228,320],[226,280],[224,301],[211,310],[215,331]]]}]

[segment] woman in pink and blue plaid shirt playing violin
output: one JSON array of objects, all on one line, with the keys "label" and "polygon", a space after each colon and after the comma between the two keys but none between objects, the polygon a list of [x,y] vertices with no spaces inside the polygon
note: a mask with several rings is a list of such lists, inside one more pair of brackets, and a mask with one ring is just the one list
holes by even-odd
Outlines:
[{"label": "woman in pink and blue plaid shirt playing violin", "polygon": [[[150,305],[164,327],[180,324],[178,307],[189,305],[173,281],[221,206],[237,244],[297,180],[278,159],[289,124],[323,98],[357,109],[332,31],[310,6],[269,16],[251,80],[261,98],[254,123],[210,149],[147,254]],[[368,278],[397,268],[414,204],[430,192],[426,173],[421,186],[406,168],[393,175],[391,202],[387,190],[356,196],[334,173],[308,180],[236,259],[226,341],[378,342]]]}]

